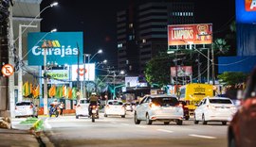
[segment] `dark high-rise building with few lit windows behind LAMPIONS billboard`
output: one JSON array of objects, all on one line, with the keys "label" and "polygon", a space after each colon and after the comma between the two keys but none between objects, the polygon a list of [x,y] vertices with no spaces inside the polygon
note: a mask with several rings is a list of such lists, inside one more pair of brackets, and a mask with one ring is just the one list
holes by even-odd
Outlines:
[{"label": "dark high-rise building with few lit windows behind LAMPIONS billboard", "polygon": [[193,24],[193,3],[149,2],[118,12],[118,66],[128,74],[143,74],[146,63],[166,52],[167,25]]}]

